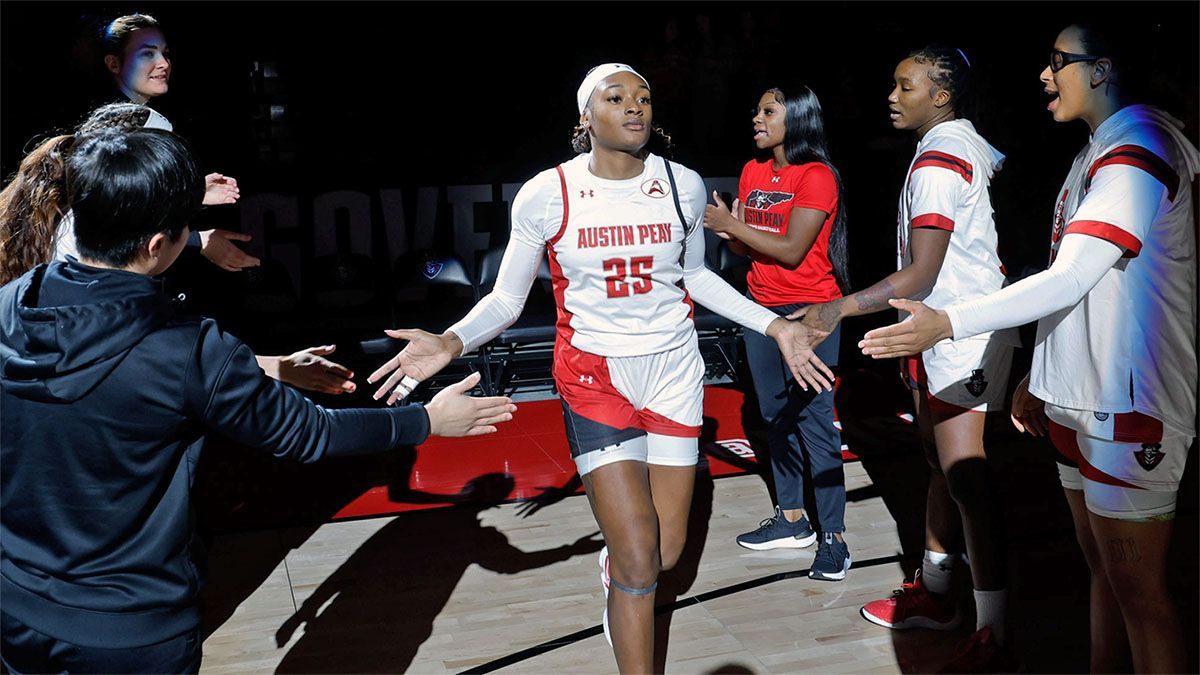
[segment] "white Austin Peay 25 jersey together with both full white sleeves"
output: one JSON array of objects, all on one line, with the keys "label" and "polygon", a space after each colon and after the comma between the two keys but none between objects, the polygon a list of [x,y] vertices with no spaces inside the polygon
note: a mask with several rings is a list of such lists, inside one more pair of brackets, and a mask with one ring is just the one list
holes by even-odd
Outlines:
[{"label": "white Austin Peay 25 jersey together with both full white sleeves", "polygon": [[450,328],[463,341],[463,353],[520,316],[542,249],[553,276],[558,336],[583,352],[632,357],[680,347],[695,333],[692,298],[766,331],[778,317],[703,264],[706,195],[696,172],[671,163],[689,221],[685,235],[664,159],[648,155],[641,175],[626,180],[593,175],[590,159],[583,154],[546,169],[517,192],[496,289]]}]

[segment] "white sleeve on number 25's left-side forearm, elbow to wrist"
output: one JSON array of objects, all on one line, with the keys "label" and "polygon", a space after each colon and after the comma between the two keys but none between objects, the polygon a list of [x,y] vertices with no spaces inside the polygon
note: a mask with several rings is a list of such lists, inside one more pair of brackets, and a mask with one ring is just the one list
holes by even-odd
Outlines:
[{"label": "white sleeve on number 25's left-side forearm, elbow to wrist", "polygon": [[492,292],[449,329],[462,340],[463,354],[487,344],[521,316],[529,287],[538,276],[542,250],[544,246],[516,237],[509,239]]}]

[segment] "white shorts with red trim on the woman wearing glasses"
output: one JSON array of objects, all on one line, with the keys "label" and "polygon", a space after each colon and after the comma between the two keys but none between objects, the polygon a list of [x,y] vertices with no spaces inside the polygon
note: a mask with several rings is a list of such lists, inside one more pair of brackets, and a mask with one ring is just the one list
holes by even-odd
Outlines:
[{"label": "white shorts with red trim on the woman wearing glasses", "polygon": [[[1148,520],[1175,513],[1192,438],[1170,429],[1157,441],[1122,442],[1064,426],[1051,408],[1050,440],[1062,455],[1058,478],[1082,490],[1087,510],[1118,520]],[[1060,408],[1062,410],[1062,408]],[[1061,419],[1061,416],[1058,416]]]}]

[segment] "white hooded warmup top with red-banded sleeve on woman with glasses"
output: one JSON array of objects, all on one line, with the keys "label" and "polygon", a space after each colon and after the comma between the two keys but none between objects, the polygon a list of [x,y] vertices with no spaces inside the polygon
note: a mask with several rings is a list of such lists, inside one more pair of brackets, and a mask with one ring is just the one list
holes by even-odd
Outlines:
[{"label": "white hooded warmup top with red-banded sleeve on woman with glasses", "polygon": [[1195,435],[1192,180],[1200,155],[1177,125],[1129,106],[1075,157],[1055,209],[1051,256],[1072,232],[1126,252],[1078,304],[1038,322],[1030,392],[1097,419],[1140,412]]}]

